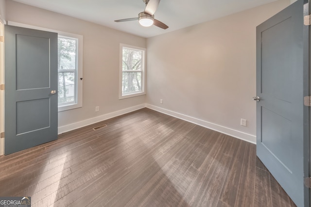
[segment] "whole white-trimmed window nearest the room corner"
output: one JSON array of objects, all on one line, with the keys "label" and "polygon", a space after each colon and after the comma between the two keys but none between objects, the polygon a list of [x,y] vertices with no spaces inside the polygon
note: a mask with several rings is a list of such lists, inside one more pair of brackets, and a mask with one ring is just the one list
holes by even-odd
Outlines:
[{"label": "whole white-trimmed window nearest the room corner", "polygon": [[121,44],[119,98],[145,95],[145,48]]}]

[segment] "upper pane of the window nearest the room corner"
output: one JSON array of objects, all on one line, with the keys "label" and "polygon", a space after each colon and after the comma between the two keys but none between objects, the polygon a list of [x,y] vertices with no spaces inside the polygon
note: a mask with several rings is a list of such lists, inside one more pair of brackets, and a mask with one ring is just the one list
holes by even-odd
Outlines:
[{"label": "upper pane of the window nearest the room corner", "polygon": [[122,70],[141,70],[142,51],[129,48],[122,50]]}]

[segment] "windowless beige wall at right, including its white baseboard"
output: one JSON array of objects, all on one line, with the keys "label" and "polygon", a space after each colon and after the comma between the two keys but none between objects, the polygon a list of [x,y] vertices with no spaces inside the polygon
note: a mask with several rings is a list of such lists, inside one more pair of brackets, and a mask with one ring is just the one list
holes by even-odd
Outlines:
[{"label": "windowless beige wall at right, including its white baseboard", "polygon": [[256,142],[256,26],[289,4],[278,0],[148,38],[149,107]]}]

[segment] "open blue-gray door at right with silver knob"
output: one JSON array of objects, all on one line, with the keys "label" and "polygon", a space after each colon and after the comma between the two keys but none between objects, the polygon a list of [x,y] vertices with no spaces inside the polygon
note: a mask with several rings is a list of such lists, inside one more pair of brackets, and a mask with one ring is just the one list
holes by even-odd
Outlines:
[{"label": "open blue-gray door at right with silver knob", "polygon": [[298,0],[257,27],[257,156],[298,207],[309,206],[308,11]]}]

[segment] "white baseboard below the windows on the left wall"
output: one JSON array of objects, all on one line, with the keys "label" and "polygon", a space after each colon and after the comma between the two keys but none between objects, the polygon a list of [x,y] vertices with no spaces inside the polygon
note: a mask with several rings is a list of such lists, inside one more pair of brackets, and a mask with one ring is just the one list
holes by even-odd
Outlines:
[{"label": "white baseboard below the windows on the left wall", "polygon": [[95,124],[97,122],[101,122],[101,121],[104,121],[107,119],[111,119],[113,117],[120,116],[120,115],[123,115],[125,113],[136,111],[136,110],[139,110],[139,109],[142,109],[145,107],[146,107],[145,104],[140,104],[140,105],[133,106],[133,107],[130,107],[127,109],[122,109],[120,111],[114,111],[111,113],[106,113],[104,115],[96,116],[96,117],[86,119],[86,120],[83,120],[80,122],[75,122],[75,123],[72,123],[69,125],[61,126],[61,127],[58,127],[58,134],[61,134],[61,133],[67,132],[67,131],[71,131],[71,130],[74,130],[77,128],[86,127],[88,125]]}]

